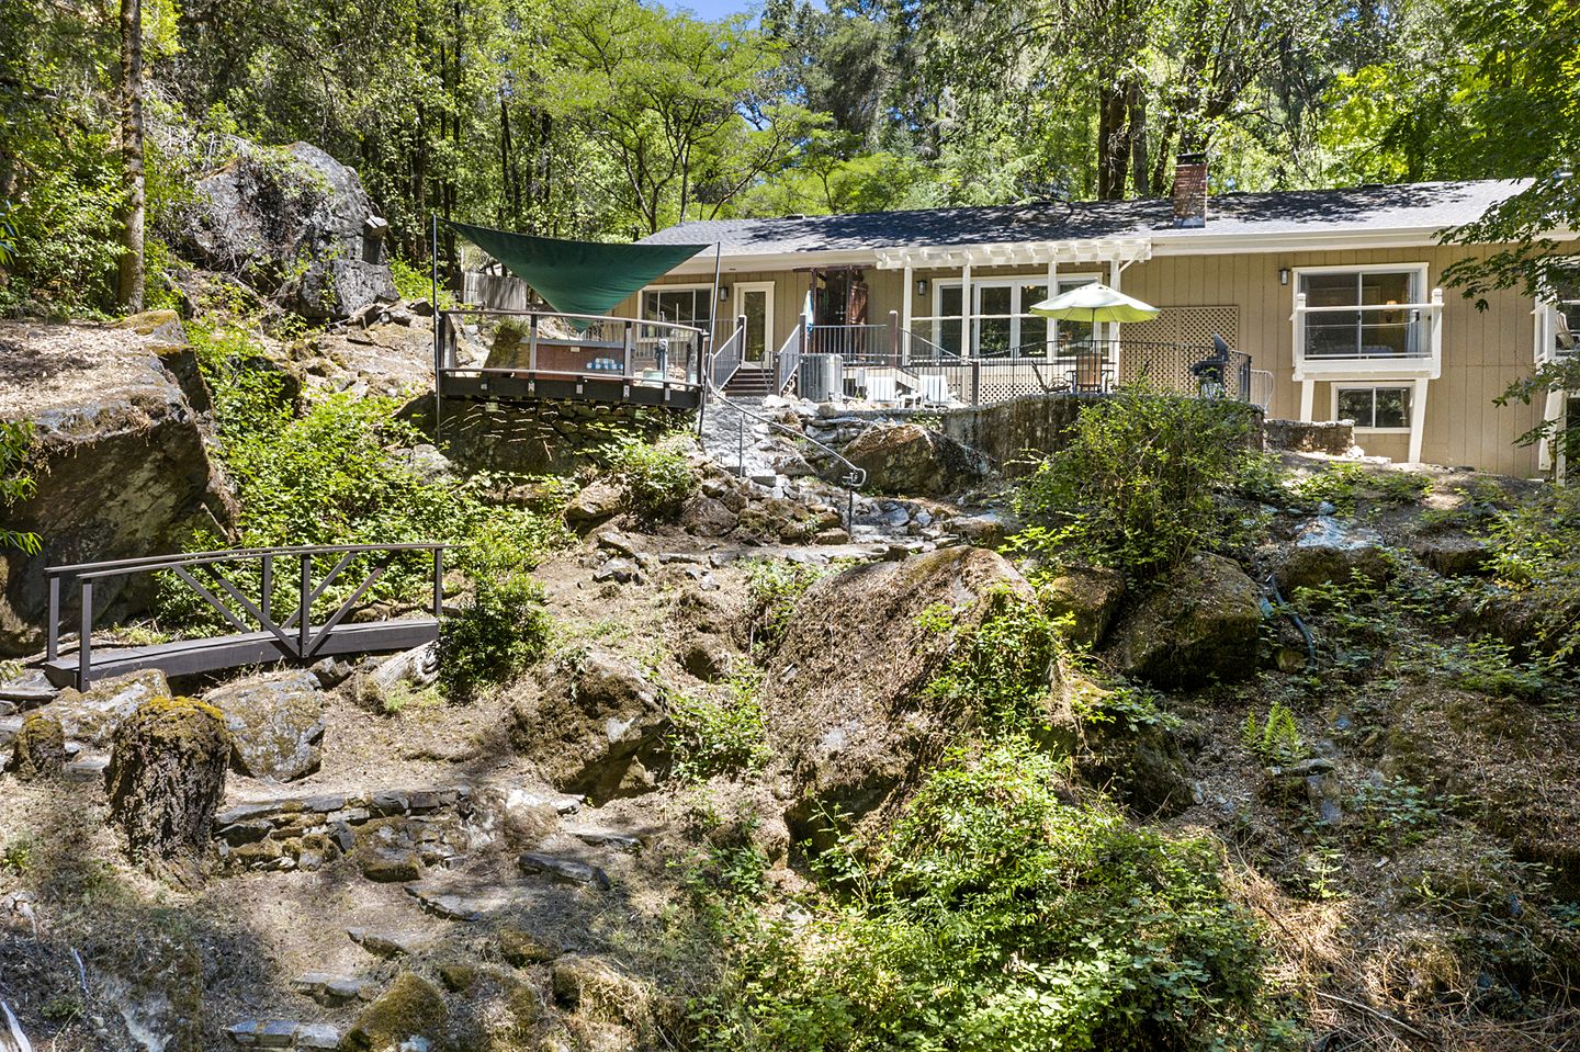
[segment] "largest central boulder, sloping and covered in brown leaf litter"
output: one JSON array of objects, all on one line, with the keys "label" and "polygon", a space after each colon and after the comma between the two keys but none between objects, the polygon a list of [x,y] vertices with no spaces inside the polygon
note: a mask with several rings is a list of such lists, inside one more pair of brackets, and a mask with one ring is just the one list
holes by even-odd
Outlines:
[{"label": "largest central boulder, sloping and covered in brown leaf litter", "polygon": [[926,700],[950,633],[923,613],[948,610],[970,630],[1000,589],[1033,599],[1003,556],[957,547],[860,565],[806,592],[762,692],[769,746],[796,793],[785,815],[795,840],[820,843],[825,815],[888,813],[957,736],[957,708]]}]

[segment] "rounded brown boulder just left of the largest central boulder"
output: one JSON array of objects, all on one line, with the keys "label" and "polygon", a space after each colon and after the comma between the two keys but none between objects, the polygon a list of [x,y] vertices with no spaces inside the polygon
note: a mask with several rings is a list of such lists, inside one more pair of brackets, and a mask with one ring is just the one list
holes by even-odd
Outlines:
[{"label": "rounded brown boulder just left of the largest central boulder", "polygon": [[653,788],[670,720],[641,667],[604,649],[553,662],[512,709],[510,741],[564,793],[594,802]]}]

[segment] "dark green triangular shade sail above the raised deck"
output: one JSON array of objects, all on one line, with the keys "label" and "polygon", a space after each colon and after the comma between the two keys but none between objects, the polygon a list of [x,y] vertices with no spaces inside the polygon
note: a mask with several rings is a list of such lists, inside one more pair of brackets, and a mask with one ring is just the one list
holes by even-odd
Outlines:
[{"label": "dark green triangular shade sail above the raised deck", "polygon": [[561,314],[604,314],[713,245],[610,245],[450,223]]}]

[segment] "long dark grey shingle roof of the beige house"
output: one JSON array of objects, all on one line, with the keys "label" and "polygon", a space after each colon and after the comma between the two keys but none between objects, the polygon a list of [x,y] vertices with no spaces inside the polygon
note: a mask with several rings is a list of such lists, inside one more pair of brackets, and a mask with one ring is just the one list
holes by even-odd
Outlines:
[{"label": "long dark grey shingle roof of the beige house", "polygon": [[649,245],[722,242],[727,256],[817,253],[921,245],[1084,240],[1098,237],[1212,239],[1224,234],[1438,231],[1480,218],[1523,180],[1398,183],[1346,190],[1213,194],[1207,226],[1172,226],[1168,199],[1085,201],[981,209],[921,209],[781,220],[698,220],[645,237]]}]

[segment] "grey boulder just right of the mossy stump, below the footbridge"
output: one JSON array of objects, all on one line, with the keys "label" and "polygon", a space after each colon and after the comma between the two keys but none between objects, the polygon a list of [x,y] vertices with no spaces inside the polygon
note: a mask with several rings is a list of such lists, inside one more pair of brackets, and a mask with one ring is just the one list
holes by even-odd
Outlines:
[{"label": "grey boulder just right of the mossy stump, below the footbridge", "polygon": [[324,742],[324,695],[305,668],[269,673],[210,690],[204,701],[224,716],[235,750],[231,769],[265,782],[294,782],[318,771]]}]

